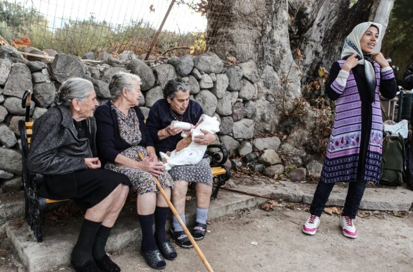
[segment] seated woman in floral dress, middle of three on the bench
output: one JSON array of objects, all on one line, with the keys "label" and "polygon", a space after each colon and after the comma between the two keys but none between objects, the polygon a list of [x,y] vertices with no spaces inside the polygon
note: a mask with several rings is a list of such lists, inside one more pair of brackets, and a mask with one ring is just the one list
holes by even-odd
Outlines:
[{"label": "seated woman in floral dress, middle of three on the bench", "polygon": [[[158,177],[169,197],[173,181],[168,172],[162,171],[165,167],[157,160],[154,143],[138,107],[142,96],[140,83],[134,74],[119,73],[112,77],[109,89],[113,99],[99,106],[95,113],[98,151],[104,168],[128,176],[132,190],[138,193],[141,253],[150,267],[162,269],[166,266],[164,258],[173,260],[177,255],[165,234],[168,204],[157,193],[153,175]],[[138,152],[144,156],[142,161]]]}]

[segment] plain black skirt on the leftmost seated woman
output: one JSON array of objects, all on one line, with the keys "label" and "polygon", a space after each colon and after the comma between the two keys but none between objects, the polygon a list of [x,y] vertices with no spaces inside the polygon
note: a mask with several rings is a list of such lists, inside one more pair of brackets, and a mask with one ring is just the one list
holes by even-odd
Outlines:
[{"label": "plain black skirt on the leftmost seated woman", "polygon": [[88,209],[100,203],[120,184],[129,186],[128,177],[110,170],[87,169],[45,175],[38,193],[54,200],[72,199],[80,208]]}]

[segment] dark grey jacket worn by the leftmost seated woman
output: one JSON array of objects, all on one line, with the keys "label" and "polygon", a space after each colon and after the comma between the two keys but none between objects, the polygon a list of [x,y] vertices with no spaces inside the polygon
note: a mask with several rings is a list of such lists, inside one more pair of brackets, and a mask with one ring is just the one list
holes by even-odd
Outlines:
[{"label": "dark grey jacket worn by the leftmost seated woman", "polygon": [[[86,119],[90,134],[96,135],[94,118]],[[30,171],[61,175],[86,169],[85,158],[92,157],[88,139],[79,139],[69,110],[64,106],[50,108],[34,121],[28,155]]]}]

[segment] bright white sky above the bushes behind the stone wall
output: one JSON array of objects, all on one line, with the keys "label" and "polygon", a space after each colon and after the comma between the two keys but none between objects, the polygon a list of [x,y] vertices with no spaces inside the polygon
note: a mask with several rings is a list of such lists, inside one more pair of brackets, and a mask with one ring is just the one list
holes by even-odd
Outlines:
[{"label": "bright white sky above the bushes behind the stone wall", "polygon": [[[14,0],[7,0],[14,3]],[[16,0],[25,8],[34,6],[49,21],[49,28],[63,26],[65,20],[83,20],[91,14],[111,25],[128,25],[143,19],[158,28],[171,0]],[[153,11],[150,10],[153,5]],[[205,31],[206,17],[194,12],[186,5],[174,4],[163,30],[176,33]]]}]

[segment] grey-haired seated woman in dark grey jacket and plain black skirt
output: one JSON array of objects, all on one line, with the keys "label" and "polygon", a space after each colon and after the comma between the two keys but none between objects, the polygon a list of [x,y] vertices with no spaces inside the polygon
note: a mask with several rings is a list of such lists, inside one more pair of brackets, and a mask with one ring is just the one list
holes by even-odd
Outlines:
[{"label": "grey-haired seated woman in dark grey jacket and plain black skirt", "polygon": [[93,85],[81,78],[65,81],[58,106],[34,121],[29,170],[44,174],[38,193],[56,200],[73,199],[86,209],[79,238],[71,253],[78,272],[119,272],[104,251],[110,230],[129,192],[125,175],[101,170],[96,157],[98,105]]}]

